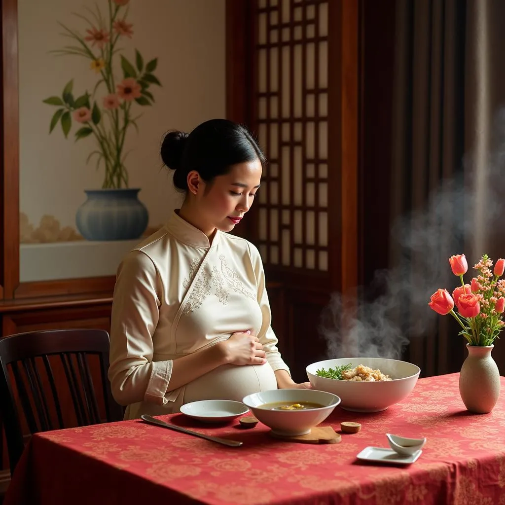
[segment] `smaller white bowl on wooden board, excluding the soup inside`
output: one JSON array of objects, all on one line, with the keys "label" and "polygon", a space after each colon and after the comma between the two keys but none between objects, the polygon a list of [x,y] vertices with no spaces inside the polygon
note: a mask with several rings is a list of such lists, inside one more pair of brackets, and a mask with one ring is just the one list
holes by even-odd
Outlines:
[{"label": "smaller white bowl on wooden board, excluding the soup inside", "polygon": [[[318,409],[279,411],[263,408],[267,403],[285,401],[304,403],[306,401],[319,403],[324,407]],[[340,398],[326,391],[314,389],[272,389],[252,393],[242,399],[246,405],[263,424],[272,428],[278,435],[297,436],[310,433],[314,426],[323,422],[340,403]]]}]

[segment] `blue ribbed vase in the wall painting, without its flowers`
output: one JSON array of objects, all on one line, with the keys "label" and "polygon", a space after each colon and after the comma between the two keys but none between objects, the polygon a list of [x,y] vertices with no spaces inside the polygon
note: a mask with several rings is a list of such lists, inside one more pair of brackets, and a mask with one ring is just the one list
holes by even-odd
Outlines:
[{"label": "blue ribbed vase in the wall painting, without its flowers", "polygon": [[149,214],[138,199],[139,188],[86,189],[76,224],[87,240],[134,240],[147,227]]}]

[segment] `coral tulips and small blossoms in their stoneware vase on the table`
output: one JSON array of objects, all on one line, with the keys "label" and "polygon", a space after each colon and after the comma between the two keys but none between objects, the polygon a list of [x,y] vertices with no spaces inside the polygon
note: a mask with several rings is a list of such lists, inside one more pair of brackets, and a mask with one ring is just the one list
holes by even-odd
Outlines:
[{"label": "coral tulips and small blossoms in their stoneware vase on the table", "polygon": [[452,291],[452,296],[446,289],[438,289],[428,305],[442,316],[450,314],[461,326],[460,335],[467,340],[469,354],[460,373],[460,394],[469,411],[487,413],[496,404],[500,390],[498,367],[491,350],[505,325],[505,280],[500,279],[505,260],[497,260],[491,271],[493,262],[487,255],[482,256],[474,265],[478,273],[470,284],[463,279],[468,271],[465,255],[451,256],[449,263],[461,286]]}]

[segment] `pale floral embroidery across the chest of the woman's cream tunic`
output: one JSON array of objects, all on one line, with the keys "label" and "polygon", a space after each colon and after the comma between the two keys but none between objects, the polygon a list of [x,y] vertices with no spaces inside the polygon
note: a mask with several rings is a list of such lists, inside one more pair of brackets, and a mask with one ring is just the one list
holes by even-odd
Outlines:
[{"label": "pale floral embroidery across the chest of the woman's cream tunic", "polygon": [[[200,308],[205,298],[211,293],[211,279],[214,285],[214,294],[222,305],[227,305],[230,301],[230,288],[236,293],[242,293],[251,300],[256,300],[256,294],[244,286],[236,272],[228,266],[224,255],[221,255],[219,259],[221,260],[221,271],[219,271],[217,267],[213,267],[212,272],[206,271],[204,268],[200,272],[198,279],[194,281],[194,286],[182,311],[183,316]],[[200,261],[197,258],[191,261],[189,266],[189,278],[185,278],[182,282],[185,289],[191,287],[199,266]]]}]

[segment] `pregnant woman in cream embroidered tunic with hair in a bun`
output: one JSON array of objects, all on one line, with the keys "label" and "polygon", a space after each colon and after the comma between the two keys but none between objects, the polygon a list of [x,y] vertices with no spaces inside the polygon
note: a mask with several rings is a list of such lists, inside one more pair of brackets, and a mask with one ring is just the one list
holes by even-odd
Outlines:
[{"label": "pregnant woman in cream embroidered tunic with hair in a bun", "polygon": [[294,383],[277,350],[258,249],[227,233],[260,187],[260,147],[244,127],[214,119],[169,132],[161,156],[185,198],[118,269],[109,378],[125,419],[310,388]]}]

